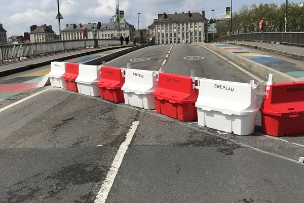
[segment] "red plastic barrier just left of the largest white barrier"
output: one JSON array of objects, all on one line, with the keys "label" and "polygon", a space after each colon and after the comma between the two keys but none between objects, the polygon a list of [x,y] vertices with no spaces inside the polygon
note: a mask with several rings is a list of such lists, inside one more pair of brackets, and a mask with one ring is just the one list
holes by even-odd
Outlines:
[{"label": "red plastic barrier just left of the largest white barrier", "polygon": [[193,89],[192,78],[170,73],[160,73],[156,98],[156,111],[166,116],[193,121],[198,118],[195,103],[198,90]]}]

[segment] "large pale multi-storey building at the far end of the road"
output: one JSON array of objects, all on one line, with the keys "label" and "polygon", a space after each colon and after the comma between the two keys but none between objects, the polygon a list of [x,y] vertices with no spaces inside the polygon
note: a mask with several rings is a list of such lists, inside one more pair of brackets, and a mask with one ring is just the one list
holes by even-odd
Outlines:
[{"label": "large pale multi-storey building at the far end of the road", "polygon": [[[157,44],[189,44],[207,42],[208,19],[205,12],[158,14],[154,20],[155,43]],[[205,40],[204,40],[205,37]]]}]

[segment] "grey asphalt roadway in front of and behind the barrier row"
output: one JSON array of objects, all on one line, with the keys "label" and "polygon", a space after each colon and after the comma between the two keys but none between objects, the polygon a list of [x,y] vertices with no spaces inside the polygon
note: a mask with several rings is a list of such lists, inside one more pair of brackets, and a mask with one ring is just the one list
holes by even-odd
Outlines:
[{"label": "grey asphalt roadway in front of and behind the barrier row", "polygon": [[[131,67],[158,70],[170,47],[143,48],[107,65],[148,57]],[[251,79],[202,47],[175,45],[166,72],[192,69],[197,77]],[[0,202],[93,202],[133,121],[139,125],[106,202],[303,201],[304,165],[296,160],[304,148],[257,133],[235,136],[57,88],[0,117]],[[283,139],[303,143],[302,136]]]}]

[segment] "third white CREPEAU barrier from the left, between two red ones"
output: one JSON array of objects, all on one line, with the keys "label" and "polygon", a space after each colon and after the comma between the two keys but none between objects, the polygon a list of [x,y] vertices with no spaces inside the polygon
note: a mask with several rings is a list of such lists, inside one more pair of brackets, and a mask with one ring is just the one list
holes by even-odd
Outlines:
[{"label": "third white CREPEAU barrier from the left, between two red ones", "polygon": [[156,71],[126,69],[124,91],[126,105],[144,109],[155,109],[155,92],[157,82]]}]

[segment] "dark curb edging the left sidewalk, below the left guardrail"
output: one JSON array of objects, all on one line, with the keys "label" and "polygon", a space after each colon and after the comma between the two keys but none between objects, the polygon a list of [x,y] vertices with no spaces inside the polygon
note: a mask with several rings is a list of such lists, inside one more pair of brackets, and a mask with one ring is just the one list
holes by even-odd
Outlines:
[{"label": "dark curb edging the left sidewalk, below the left guardrail", "polygon": [[[99,53],[99,52],[102,52],[102,51],[120,49],[120,48],[125,48],[125,47],[132,47],[133,48],[133,45],[131,45],[131,46],[121,46],[121,47],[108,47],[108,48],[105,48],[105,49],[98,49],[98,50],[88,51],[88,52],[74,54],[74,55],[70,55],[70,56],[59,57],[59,58],[56,59],[56,61],[64,61],[64,60],[68,60],[68,59],[71,59],[71,58],[77,58],[77,57],[86,56],[86,55],[89,55],[89,54]],[[28,64],[28,65],[24,65],[24,66],[19,66],[19,67],[16,67],[15,69],[0,71],[0,77],[12,75],[12,74],[15,74],[15,73],[20,73],[20,72],[23,72],[23,71],[28,71],[28,70],[31,70],[31,69],[35,69],[37,67],[48,65],[52,61],[54,61],[54,59],[46,60],[46,61],[42,61],[42,62],[38,62],[38,63],[33,63],[33,64]]]}]

